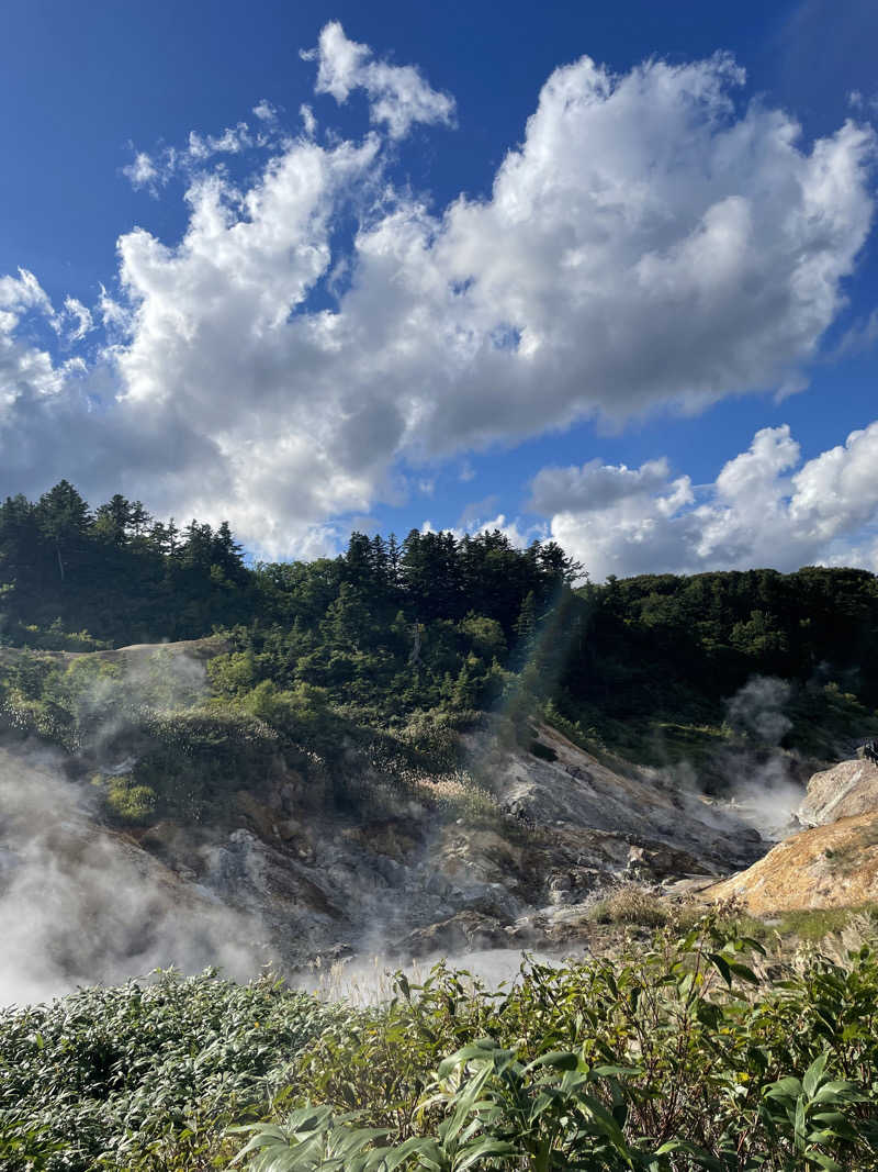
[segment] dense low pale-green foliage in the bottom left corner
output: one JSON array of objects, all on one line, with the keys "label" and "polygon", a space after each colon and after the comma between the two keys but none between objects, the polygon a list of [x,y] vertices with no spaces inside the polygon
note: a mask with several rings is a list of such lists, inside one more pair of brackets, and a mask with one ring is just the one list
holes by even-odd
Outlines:
[{"label": "dense low pale-green foliage in the bottom left corner", "polygon": [[201,1130],[215,1144],[224,1120],[265,1110],[296,1054],[339,1013],[270,980],[173,972],[7,1009],[0,1167],[160,1168],[169,1151],[174,1167],[199,1166]]}]

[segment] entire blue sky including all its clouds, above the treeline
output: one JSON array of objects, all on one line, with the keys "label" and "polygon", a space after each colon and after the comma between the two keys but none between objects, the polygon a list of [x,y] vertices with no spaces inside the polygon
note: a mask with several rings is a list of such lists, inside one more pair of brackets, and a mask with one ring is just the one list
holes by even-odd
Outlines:
[{"label": "entire blue sky including all its clouds, above the treeline", "polygon": [[878,9],[5,16],[0,492],[878,568]]}]

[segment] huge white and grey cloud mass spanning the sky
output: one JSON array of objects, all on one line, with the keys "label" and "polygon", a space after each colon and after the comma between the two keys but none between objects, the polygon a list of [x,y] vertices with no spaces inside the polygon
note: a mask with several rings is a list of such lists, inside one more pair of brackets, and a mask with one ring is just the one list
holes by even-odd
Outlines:
[{"label": "huge white and grey cloud mass spanning the sky", "polygon": [[[227,517],[286,556],[392,499],[402,462],[803,383],[870,229],[870,129],[805,145],[787,114],[735,104],[743,75],[725,56],[618,76],[583,57],[549,77],[491,196],[437,212],[393,165],[451,100],[337,23],[313,56],[317,91],[363,88],[375,129],[317,142],[311,115],[265,138],[260,103],[258,134],[239,123],[146,156],[144,183],[186,177],[187,226],[118,240],[84,375],[23,340],[15,306],[36,294],[2,279],[0,491],[63,475]],[[260,144],[247,178],[217,169]],[[579,482],[594,499],[601,477],[606,507],[633,485],[673,512],[692,491],[656,495],[663,466],[553,476],[544,504]]]}]

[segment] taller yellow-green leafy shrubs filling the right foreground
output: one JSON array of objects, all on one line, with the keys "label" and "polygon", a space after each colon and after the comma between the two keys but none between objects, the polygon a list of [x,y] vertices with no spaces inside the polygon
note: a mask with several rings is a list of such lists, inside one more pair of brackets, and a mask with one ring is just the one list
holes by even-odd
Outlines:
[{"label": "taller yellow-green leafy shrubs filling the right foreground", "polygon": [[310,1167],[309,1151],[376,1172],[873,1170],[874,954],[769,977],[760,952],[707,917],[499,994],[441,968],[400,981],[303,1054],[296,1098],[323,1106],[247,1127],[242,1156],[253,1172]]}]

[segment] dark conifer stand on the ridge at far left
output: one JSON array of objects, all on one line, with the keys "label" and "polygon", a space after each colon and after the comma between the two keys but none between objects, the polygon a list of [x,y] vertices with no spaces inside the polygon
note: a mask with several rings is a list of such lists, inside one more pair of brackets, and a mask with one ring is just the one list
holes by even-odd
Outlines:
[{"label": "dark conifer stand on the ridge at far left", "polygon": [[92,513],[67,481],[0,506],[5,641],[90,650],[186,639],[238,621],[248,586],[227,525],[179,531],[122,496]]}]

